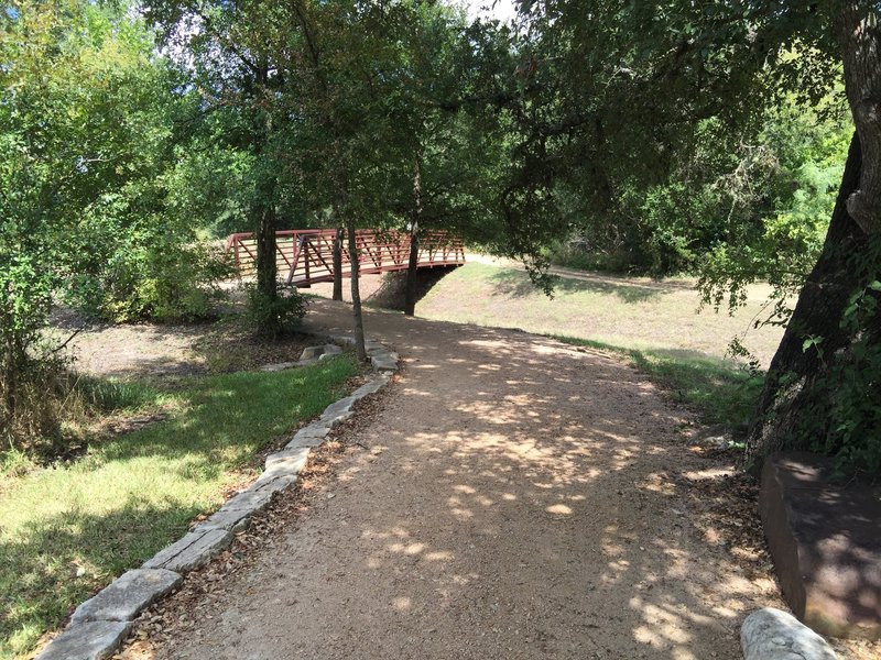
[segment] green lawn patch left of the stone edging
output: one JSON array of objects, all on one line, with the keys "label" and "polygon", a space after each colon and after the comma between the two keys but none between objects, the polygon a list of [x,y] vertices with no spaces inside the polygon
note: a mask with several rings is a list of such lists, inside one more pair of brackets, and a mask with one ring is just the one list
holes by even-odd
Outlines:
[{"label": "green lawn patch left of the stone edging", "polygon": [[[165,421],[77,460],[0,476],[0,657],[22,657],[69,608],[216,509],[254,454],[339,398],[349,356],[278,373],[185,378]],[[138,405],[156,392],[98,385]],[[166,406],[167,407],[167,406]],[[238,477],[240,477],[240,472]]]}]

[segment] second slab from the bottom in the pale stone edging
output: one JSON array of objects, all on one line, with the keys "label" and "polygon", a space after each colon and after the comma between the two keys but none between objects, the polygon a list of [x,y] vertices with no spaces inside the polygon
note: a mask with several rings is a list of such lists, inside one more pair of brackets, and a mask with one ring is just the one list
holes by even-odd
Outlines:
[{"label": "second slab from the bottom in the pale stone edging", "polygon": [[134,569],[113,580],[74,612],[73,622],[129,622],[155,603],[183,576],[165,569]]}]

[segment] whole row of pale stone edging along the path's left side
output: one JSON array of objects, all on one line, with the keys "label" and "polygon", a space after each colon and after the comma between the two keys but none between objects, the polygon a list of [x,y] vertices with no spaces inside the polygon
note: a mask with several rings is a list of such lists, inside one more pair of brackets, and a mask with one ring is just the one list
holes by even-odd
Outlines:
[{"label": "whole row of pale stone edging along the path's left side", "polygon": [[[331,336],[329,340],[338,344],[355,344],[355,339],[349,336]],[[335,426],[354,415],[357,402],[385,387],[389,373],[398,370],[396,353],[372,340],[366,341],[365,345],[373,369],[379,372],[373,378],[327,406],[320,417],[300,429],[284,449],[268,455],[263,473],[250,487],[232,496],[217,513],[160,550],[140,569],[127,571],[80,604],[67,629],[53,639],[36,660],[101,660],[112,656],[143,609],[178,586],[185,573],[228,548],[233,535],[248,527],[251,516],[264,509],[273,494],[293,486],[306,465],[311,449],[322,444]],[[286,369],[312,363],[318,356],[279,366]]]}]

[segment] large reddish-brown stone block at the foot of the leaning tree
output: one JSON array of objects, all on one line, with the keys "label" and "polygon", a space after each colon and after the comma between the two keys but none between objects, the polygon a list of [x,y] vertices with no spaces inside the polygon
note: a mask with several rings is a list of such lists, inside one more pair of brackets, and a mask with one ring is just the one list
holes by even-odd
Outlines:
[{"label": "large reddish-brown stone block at the foot of the leaning tree", "polygon": [[765,461],[759,510],[781,590],[818,632],[881,639],[881,487],[831,473],[806,452]]}]

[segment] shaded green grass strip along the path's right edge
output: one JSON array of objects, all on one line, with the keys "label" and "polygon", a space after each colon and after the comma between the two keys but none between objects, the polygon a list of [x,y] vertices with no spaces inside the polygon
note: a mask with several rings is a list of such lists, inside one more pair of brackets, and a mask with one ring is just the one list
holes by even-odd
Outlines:
[{"label": "shaded green grass strip along the path's right edge", "polygon": [[559,341],[626,356],[674,400],[700,416],[707,425],[738,427],[746,424],[764,383],[764,374],[750,374],[730,362],[683,356],[671,351],[640,350],[573,337]]}]

